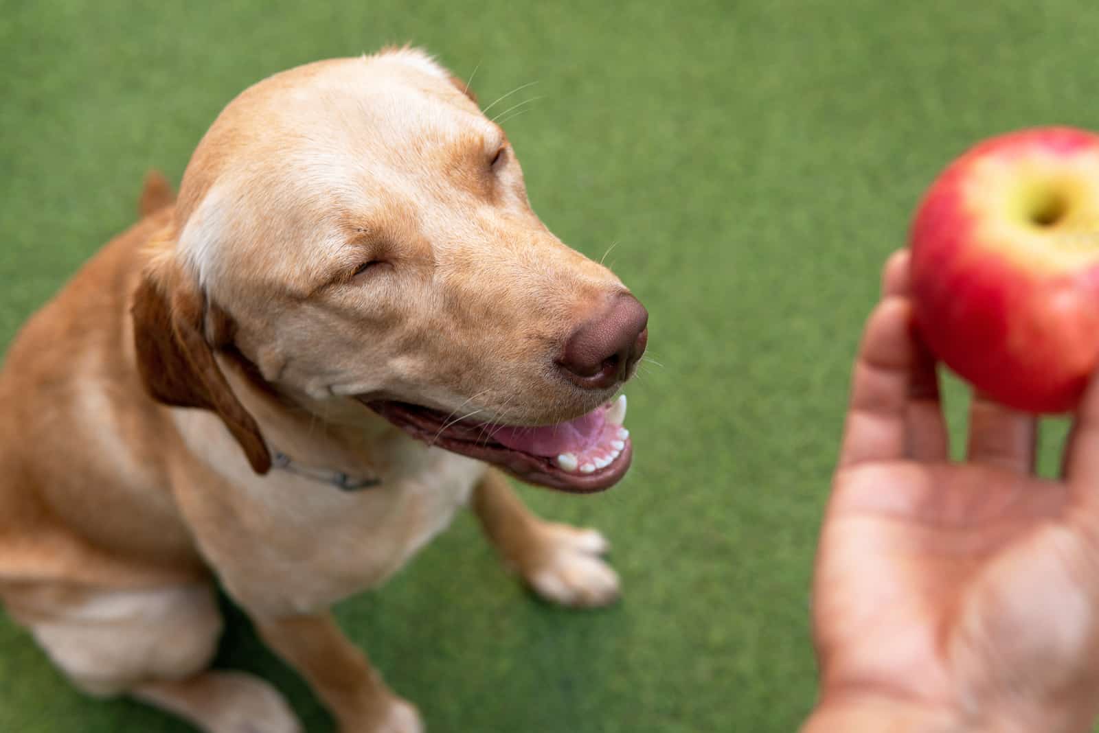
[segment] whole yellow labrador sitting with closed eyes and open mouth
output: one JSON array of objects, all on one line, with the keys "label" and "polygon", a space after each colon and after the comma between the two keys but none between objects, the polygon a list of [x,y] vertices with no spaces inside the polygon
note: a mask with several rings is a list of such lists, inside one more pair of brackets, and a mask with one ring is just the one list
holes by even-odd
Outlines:
[{"label": "whole yellow labrador sitting with closed eyes and open mouth", "polygon": [[221,113],[178,201],[143,201],[0,375],[0,598],[79,688],[299,730],[266,683],[208,669],[217,577],[341,731],[420,731],[326,609],[467,503],[536,593],[615,598],[604,539],[502,472],[622,477],[647,314],[534,215],[464,84],[414,49],[279,74]]}]

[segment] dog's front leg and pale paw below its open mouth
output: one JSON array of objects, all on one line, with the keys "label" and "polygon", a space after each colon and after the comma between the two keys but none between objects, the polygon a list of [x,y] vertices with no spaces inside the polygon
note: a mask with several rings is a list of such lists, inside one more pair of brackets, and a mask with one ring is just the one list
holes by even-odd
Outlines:
[{"label": "dog's front leg and pale paw below its open mouth", "polygon": [[495,469],[477,485],[473,508],[504,563],[543,598],[576,607],[618,598],[618,574],[601,557],[610,545],[596,530],[537,518]]}]

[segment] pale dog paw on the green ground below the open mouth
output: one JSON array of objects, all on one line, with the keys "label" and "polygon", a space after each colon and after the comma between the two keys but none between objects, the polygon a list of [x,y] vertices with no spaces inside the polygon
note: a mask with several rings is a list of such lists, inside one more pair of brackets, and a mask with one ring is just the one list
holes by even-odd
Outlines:
[{"label": "pale dog paw on the green ground below the open mouth", "polygon": [[593,529],[544,525],[539,552],[523,575],[548,601],[574,608],[609,606],[618,600],[618,573],[600,555],[610,543]]}]

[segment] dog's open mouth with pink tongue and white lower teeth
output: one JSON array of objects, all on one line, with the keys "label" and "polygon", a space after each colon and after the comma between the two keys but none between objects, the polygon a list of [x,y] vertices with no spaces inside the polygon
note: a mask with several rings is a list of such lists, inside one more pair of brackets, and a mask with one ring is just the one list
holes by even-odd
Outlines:
[{"label": "dog's open mouth with pink tongue and white lower teeth", "polygon": [[625,395],[586,415],[542,427],[454,420],[440,410],[400,402],[367,407],[430,446],[496,464],[515,477],[565,492],[599,492],[614,485],[633,454]]}]

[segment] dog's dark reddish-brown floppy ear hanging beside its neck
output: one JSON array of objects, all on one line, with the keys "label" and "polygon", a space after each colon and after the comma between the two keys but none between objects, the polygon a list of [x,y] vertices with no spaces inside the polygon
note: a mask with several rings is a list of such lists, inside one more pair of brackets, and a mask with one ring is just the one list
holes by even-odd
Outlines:
[{"label": "dog's dark reddish-brown floppy ear hanging beside its neck", "polygon": [[[174,269],[174,268],[162,268]],[[134,293],[134,342],[145,388],[175,407],[218,414],[244,449],[252,469],[270,470],[271,458],[259,426],[233,394],[204,336],[206,301],[187,286],[182,273],[146,271]]]}]

